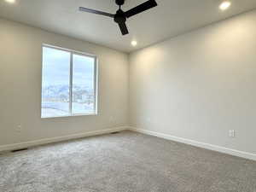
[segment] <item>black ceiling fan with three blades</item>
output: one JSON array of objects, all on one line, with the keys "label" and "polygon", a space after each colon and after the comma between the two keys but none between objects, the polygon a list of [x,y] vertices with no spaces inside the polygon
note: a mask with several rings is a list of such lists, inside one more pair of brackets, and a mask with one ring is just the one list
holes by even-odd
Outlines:
[{"label": "black ceiling fan with three blades", "polygon": [[128,29],[127,29],[127,26],[125,24],[126,19],[130,18],[133,15],[140,14],[145,10],[148,10],[148,9],[151,9],[151,8],[154,8],[155,6],[157,6],[157,3],[155,2],[155,0],[148,0],[145,3],[142,3],[142,4],[138,5],[137,7],[124,12],[121,9],[121,6],[125,3],[125,0],[115,0],[115,3],[119,6],[119,9],[117,10],[115,15],[108,14],[106,12],[102,12],[102,11],[99,11],[99,10],[96,10],[96,9],[88,9],[88,8],[83,8],[83,7],[80,7],[79,10],[84,11],[84,12],[88,12],[88,13],[91,13],[91,14],[97,14],[97,15],[104,15],[104,16],[112,17],[113,20],[116,23],[118,23],[122,34],[126,35],[126,34],[129,33]]}]

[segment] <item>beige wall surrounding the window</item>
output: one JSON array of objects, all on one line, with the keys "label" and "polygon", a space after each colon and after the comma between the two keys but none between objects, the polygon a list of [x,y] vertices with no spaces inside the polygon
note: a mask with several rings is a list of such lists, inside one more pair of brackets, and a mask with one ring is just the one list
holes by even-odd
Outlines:
[{"label": "beige wall surrounding the window", "polygon": [[[0,146],[128,124],[126,54],[8,20],[0,20],[0,42]],[[98,116],[40,118],[42,44],[98,56]]]}]

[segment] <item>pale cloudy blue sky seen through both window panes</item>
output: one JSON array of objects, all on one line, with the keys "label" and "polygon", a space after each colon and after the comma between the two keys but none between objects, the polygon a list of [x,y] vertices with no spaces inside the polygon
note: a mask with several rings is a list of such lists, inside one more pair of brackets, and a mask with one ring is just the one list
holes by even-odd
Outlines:
[{"label": "pale cloudy blue sky seen through both window panes", "polygon": [[[73,55],[73,84],[93,88],[94,59],[84,55]],[[70,71],[70,53],[44,47],[43,84],[68,85]]]}]

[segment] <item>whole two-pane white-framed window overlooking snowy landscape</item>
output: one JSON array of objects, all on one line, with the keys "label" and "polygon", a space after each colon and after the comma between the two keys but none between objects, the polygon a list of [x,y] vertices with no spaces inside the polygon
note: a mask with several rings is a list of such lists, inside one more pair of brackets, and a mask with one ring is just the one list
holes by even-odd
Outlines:
[{"label": "whole two-pane white-framed window overlooking snowy landscape", "polygon": [[43,46],[41,117],[96,114],[96,56]]}]

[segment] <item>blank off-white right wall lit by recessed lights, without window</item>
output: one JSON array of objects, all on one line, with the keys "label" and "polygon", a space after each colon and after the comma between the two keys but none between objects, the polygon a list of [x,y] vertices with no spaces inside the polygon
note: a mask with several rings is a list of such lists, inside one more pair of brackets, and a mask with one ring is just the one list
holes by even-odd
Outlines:
[{"label": "blank off-white right wall lit by recessed lights, without window", "polygon": [[129,59],[132,126],[256,154],[256,11]]}]

